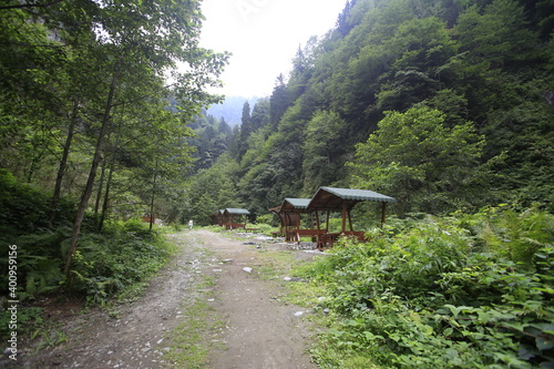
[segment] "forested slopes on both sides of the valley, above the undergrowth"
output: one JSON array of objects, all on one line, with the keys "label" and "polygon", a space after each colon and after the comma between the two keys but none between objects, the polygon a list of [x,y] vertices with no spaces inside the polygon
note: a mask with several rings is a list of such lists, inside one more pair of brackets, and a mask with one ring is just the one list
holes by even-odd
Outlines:
[{"label": "forested slopes on both sides of the valley, above the undergrowth", "polygon": [[198,51],[201,18],[181,24],[170,17],[184,6],[127,6],[0,8],[0,164],[51,191],[53,208],[69,195],[78,218],[90,201],[101,223],[208,222],[222,207],[263,215],[335,185],[394,196],[400,216],[552,211],[547,0],[347,1],[270,96],[243,102],[240,126],[201,111],[218,106],[204,88],[226,62]]}]

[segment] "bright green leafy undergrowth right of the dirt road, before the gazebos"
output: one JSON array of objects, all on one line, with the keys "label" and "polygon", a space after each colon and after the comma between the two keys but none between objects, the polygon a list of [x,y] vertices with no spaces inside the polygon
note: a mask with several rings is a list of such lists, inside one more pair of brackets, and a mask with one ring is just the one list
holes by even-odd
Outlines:
[{"label": "bright green leafy undergrowth right of the dirt road, before the gazebos", "polygon": [[329,309],[322,368],[552,368],[551,214],[392,223],[299,271]]}]

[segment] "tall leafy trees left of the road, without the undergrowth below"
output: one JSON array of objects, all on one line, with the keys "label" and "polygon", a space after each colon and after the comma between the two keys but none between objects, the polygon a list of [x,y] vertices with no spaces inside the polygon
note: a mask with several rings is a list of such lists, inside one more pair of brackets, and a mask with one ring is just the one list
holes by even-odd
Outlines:
[{"label": "tall leafy trees left of the road, without the undergrowth below", "polygon": [[[102,219],[174,218],[186,125],[219,101],[227,55],[198,47],[198,1],[0,6],[0,167]],[[47,218],[57,216],[47,214]]]}]

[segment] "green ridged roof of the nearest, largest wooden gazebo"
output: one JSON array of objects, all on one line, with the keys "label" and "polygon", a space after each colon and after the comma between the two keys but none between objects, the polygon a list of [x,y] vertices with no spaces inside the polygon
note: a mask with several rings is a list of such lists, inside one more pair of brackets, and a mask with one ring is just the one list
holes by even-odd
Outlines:
[{"label": "green ridged roof of the nearest, largest wooden gazebo", "polygon": [[319,187],[311,198],[308,209],[342,209],[343,205],[351,209],[357,203],[363,201],[396,203],[397,199],[369,189]]}]

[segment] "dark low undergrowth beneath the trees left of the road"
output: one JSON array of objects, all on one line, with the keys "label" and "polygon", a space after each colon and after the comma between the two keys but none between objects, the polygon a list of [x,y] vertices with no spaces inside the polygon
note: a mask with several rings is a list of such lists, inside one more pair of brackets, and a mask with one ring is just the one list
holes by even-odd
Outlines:
[{"label": "dark low undergrowth beneath the trees left of the road", "polygon": [[[54,222],[49,219],[51,196],[0,172],[0,244],[17,246],[17,297],[21,332],[35,331],[43,324],[40,296],[76,299],[85,306],[109,307],[113,301],[135,299],[173,254],[175,246],[163,234],[137,219],[110,221],[102,232],[94,216],[83,223],[80,248],[71,270],[63,266],[69,249],[74,203],[63,198]],[[8,252],[3,252],[8,255]],[[0,264],[1,295],[8,296],[7,259]],[[7,311],[0,316],[0,336],[9,335]]]}]

